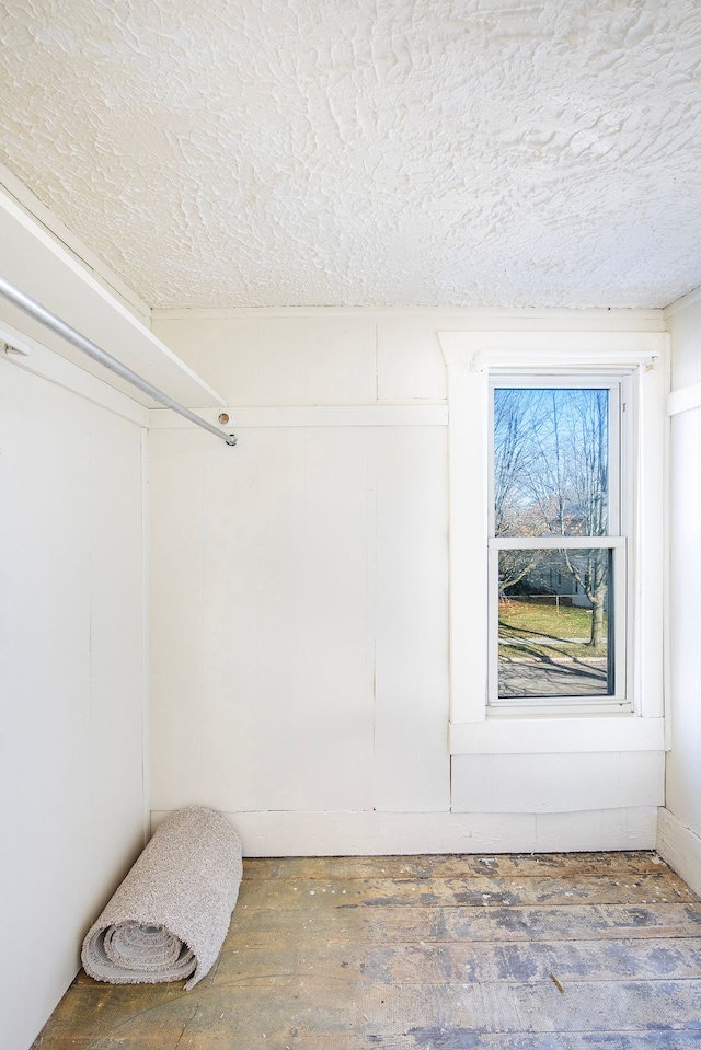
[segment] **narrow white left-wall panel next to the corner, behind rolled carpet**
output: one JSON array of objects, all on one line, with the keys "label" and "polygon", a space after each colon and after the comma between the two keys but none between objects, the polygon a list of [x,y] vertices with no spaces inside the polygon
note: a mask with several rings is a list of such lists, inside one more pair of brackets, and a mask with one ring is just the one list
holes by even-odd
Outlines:
[{"label": "narrow white left-wall panel next to the corner, behind rolled carpet", "polygon": [[[140,427],[93,407],[90,471],[90,870],[94,912],[131,859],[146,816],[142,743],[148,700]],[[119,853],[119,849],[123,851]],[[74,870],[74,861],[71,862]]]}]

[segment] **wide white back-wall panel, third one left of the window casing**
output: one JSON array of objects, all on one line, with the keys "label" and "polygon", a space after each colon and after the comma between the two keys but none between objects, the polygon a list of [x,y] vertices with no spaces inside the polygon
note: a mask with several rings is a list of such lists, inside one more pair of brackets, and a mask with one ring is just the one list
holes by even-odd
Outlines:
[{"label": "wide white back-wall panel, third one left of the window casing", "polygon": [[301,808],[304,434],[248,430],[205,461],[206,797]]}]

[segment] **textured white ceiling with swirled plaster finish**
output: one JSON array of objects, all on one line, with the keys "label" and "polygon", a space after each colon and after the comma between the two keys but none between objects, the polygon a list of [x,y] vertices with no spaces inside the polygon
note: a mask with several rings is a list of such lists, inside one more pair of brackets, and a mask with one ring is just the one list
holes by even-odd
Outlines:
[{"label": "textured white ceiling with swirled plaster finish", "polygon": [[699,0],[0,12],[0,159],[153,307],[701,284]]}]

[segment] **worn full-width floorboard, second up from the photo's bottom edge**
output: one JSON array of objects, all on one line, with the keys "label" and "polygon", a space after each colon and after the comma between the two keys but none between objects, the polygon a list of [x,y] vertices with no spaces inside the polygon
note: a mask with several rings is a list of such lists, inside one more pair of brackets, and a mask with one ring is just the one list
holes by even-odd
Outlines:
[{"label": "worn full-width floorboard, second up from the photo's bottom edge", "polygon": [[[102,1050],[101,1039],[124,1040],[138,1031],[142,1047],[175,1048],[219,1043],[232,1047],[284,1047],[308,1035],[357,1036],[360,1045],[414,1039],[406,1046],[433,1047],[430,1039],[451,1032],[467,1040],[475,1035],[545,1035],[628,1031],[660,1034],[677,1028],[701,1038],[701,979],[687,981],[572,982],[564,993],[551,980],[531,983],[435,985],[338,985],[324,978],[299,977],[292,984],[275,979],[226,989],[183,993],[149,1008],[123,1001],[124,1015],[83,1024],[83,1046]],[[94,1006],[92,1007],[94,1008]],[[114,1009],[113,1009],[114,1015]],[[668,1019],[666,1019],[668,1018]],[[674,1018],[674,1022],[671,1020]],[[65,1031],[65,1035],[67,1032]],[[74,1034],[73,1034],[74,1039]],[[209,1042],[205,1042],[208,1039]],[[233,1041],[233,1040],[238,1041]],[[169,1043],[170,1041],[170,1043]],[[45,1041],[42,1046],[67,1047]],[[72,1046],[81,1046],[78,1043]]]}]

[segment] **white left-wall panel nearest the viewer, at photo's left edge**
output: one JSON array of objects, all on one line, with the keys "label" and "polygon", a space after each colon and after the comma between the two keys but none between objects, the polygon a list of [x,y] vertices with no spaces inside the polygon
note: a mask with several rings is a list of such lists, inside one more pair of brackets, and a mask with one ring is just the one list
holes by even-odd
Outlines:
[{"label": "white left-wall panel nearest the viewer, at photo's left edge", "polygon": [[[16,857],[0,870],[3,945],[16,960],[0,1013],[3,1038],[24,1050],[76,973],[83,919],[90,442],[76,399],[9,364],[0,368],[1,820],[5,862]],[[26,1019],[18,1016],[20,1001]]]}]

